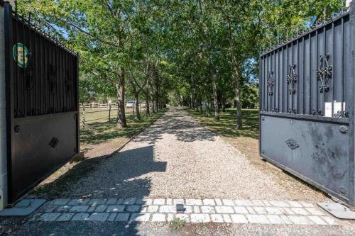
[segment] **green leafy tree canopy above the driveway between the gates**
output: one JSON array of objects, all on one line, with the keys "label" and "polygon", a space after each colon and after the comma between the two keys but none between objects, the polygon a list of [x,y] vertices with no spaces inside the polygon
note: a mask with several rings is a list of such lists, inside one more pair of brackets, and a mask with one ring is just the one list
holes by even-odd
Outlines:
[{"label": "green leafy tree canopy above the driveway between the gates", "polygon": [[[81,101],[258,106],[258,56],[342,8],[339,0],[23,0],[80,55]],[[137,105],[138,106],[138,105]],[[146,113],[149,114],[149,106]],[[139,119],[139,109],[136,112]]]}]

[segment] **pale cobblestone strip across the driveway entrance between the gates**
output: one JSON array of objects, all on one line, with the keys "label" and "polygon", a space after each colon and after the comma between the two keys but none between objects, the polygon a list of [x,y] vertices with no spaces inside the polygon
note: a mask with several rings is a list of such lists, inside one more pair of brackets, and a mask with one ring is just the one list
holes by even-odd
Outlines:
[{"label": "pale cobblestone strip across the driveway entrance between the gates", "polygon": [[[185,211],[177,212],[176,204]],[[180,218],[188,223],[256,223],[283,225],[338,225],[312,203],[231,199],[70,199],[45,203],[30,221],[121,221],[171,222]]]}]

